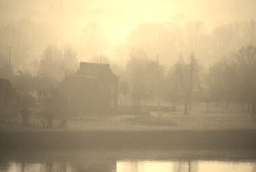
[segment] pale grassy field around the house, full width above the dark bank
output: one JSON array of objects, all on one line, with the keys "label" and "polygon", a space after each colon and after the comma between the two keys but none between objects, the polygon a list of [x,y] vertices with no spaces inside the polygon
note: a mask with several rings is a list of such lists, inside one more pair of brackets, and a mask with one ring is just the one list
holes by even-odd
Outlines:
[{"label": "pale grassy field around the house, full width above the dark bank", "polygon": [[[162,103],[167,105],[167,103]],[[215,131],[228,129],[256,129],[256,120],[240,105],[231,104],[225,109],[225,104],[210,105],[206,113],[203,103],[193,105],[189,114],[183,113],[183,106],[177,106],[176,111],[150,111],[150,114],[134,117],[133,114],[106,114],[102,116],[85,116],[70,118],[66,128],[58,128],[59,120],[55,120],[51,130],[65,131]],[[30,120],[32,127],[23,127],[18,122],[0,123],[0,131],[44,131],[38,118]]]}]

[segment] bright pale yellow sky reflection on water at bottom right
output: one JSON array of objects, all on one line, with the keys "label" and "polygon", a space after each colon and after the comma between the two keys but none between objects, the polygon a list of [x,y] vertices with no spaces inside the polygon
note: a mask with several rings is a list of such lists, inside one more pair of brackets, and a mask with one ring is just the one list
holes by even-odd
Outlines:
[{"label": "bright pale yellow sky reflection on water at bottom right", "polygon": [[255,161],[118,161],[117,172],[255,172]]}]

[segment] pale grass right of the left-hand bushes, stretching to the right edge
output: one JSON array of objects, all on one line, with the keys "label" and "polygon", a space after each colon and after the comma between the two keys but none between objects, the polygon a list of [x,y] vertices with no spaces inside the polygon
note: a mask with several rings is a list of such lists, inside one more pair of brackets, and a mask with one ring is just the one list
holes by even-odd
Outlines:
[{"label": "pale grass right of the left-hand bushes, stretching to the right edge", "polygon": [[[189,114],[182,108],[175,112],[150,111],[150,116],[134,115],[107,116],[104,118],[85,118],[70,120],[68,128],[72,130],[120,130],[120,131],[161,131],[161,130],[223,130],[254,129],[256,121],[251,114],[240,111],[233,105],[231,110],[223,111],[222,107],[214,107],[215,111],[205,113],[203,107],[193,107]],[[219,109],[219,110],[218,110]]]}]

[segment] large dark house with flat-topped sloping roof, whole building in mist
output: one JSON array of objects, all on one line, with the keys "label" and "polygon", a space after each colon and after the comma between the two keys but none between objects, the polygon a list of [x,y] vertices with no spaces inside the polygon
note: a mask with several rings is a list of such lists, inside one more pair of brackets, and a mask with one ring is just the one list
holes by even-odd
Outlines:
[{"label": "large dark house with flat-topped sloping roof, whole building in mist", "polygon": [[60,89],[68,97],[70,114],[104,114],[115,111],[118,78],[109,64],[80,63],[74,75],[61,82]]}]

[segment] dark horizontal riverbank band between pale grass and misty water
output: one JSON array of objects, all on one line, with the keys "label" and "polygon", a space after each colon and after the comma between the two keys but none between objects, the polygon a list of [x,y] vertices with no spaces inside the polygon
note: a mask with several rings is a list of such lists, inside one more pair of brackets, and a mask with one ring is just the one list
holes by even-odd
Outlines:
[{"label": "dark horizontal riverbank band between pale grass and misty water", "polygon": [[1,150],[256,150],[256,130],[0,132]]}]

